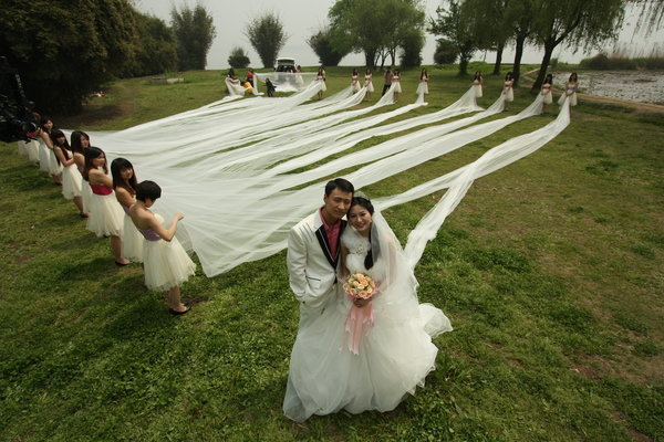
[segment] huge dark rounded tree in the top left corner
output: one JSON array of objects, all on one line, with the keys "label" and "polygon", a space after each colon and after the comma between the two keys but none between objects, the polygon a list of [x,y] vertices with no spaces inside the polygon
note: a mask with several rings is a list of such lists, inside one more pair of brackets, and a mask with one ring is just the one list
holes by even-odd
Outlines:
[{"label": "huge dark rounded tree in the top left corner", "polygon": [[4,1],[0,55],[38,110],[73,114],[89,92],[126,72],[139,45],[136,28],[127,0]]}]

